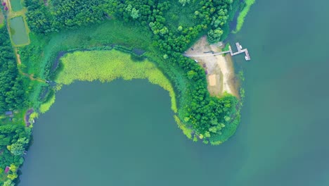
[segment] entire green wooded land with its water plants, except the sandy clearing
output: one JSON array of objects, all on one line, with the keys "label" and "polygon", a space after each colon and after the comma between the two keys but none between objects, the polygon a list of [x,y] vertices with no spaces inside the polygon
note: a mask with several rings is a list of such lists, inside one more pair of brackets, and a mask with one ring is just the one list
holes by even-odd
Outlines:
[{"label": "entire green wooded land with its water plants, except the sandy clearing", "polygon": [[[223,42],[237,13],[249,10],[251,4],[235,0],[15,4],[2,0],[1,4],[1,185],[18,182],[34,120],[49,110],[60,87],[77,80],[138,78],[159,85],[169,92],[179,128],[195,142],[221,144],[236,131],[243,95],[211,96],[207,72],[183,53],[202,36],[209,43]],[[245,14],[246,10],[237,31]]]}]

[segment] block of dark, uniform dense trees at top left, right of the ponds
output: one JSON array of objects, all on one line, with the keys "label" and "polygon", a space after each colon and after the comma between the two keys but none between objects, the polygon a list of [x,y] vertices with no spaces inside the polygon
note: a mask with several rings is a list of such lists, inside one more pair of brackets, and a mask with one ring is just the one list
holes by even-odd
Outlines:
[{"label": "block of dark, uniform dense trees at top left, right of the ponds", "polygon": [[52,0],[51,11],[43,1],[26,0],[27,21],[34,32],[49,33],[67,28],[77,28],[104,19],[105,1]]}]

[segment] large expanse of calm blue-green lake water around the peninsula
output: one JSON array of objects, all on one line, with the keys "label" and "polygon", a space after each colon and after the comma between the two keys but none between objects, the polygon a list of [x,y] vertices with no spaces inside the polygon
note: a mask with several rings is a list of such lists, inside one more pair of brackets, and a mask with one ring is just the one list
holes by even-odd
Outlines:
[{"label": "large expanse of calm blue-green lake water around the peninsula", "polygon": [[220,146],[193,143],[166,91],[146,80],[77,82],[34,124],[19,186],[329,185],[329,1],[257,1],[230,42],[252,61],[242,122]]}]

